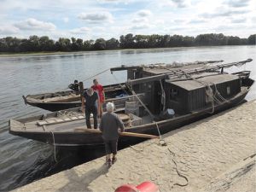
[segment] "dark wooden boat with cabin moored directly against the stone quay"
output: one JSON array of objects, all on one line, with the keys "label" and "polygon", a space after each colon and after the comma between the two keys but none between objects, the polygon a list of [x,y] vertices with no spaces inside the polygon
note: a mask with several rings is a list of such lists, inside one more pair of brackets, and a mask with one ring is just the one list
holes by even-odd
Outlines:
[{"label": "dark wooden boat with cabin moored directly against the stone quay", "polygon": [[[127,87],[131,89],[132,94],[135,94],[135,90],[138,94],[144,93],[143,101],[137,96],[137,100],[123,100],[125,108],[117,108],[115,112],[123,120],[125,131],[158,136],[211,113],[232,108],[244,100],[254,81],[248,75],[241,75],[247,72],[229,74],[217,69],[247,61],[218,65],[205,70],[197,68],[183,72],[182,76],[173,71],[159,73],[162,68],[143,71],[140,68],[135,71],[132,69],[128,75],[130,73],[133,77],[142,76],[128,81]],[[131,67],[125,67],[125,70],[130,69]],[[134,104],[134,108],[131,108],[130,102]],[[80,131],[81,128],[87,129],[80,108],[9,121],[9,133],[43,143],[57,146],[102,145],[101,134]],[[119,138],[120,143],[139,141],[141,139],[137,137]]]}]

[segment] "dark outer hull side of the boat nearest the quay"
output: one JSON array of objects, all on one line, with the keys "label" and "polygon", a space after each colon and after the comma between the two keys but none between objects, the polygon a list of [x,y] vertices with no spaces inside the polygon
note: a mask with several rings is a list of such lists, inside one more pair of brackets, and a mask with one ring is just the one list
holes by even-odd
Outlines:
[{"label": "dark outer hull side of the boat nearest the quay", "polygon": [[[252,80],[253,81],[253,80]],[[218,104],[214,108],[214,113],[218,113],[224,111],[228,108],[233,108],[236,105],[240,104],[244,101],[245,96],[247,96],[247,92],[249,91],[249,87],[247,89],[241,91],[236,96],[230,99],[230,102],[223,102]],[[183,116],[179,116],[177,118],[166,119],[157,122],[157,125],[160,129],[161,134],[165,134],[169,131],[173,131],[183,125],[188,125],[189,123],[194,122],[195,120],[203,119],[210,114],[212,108],[205,108],[202,110],[198,110],[194,113],[189,113]],[[146,125],[140,125],[128,129],[126,131],[132,131],[137,133],[145,133],[145,134],[153,134],[158,135],[156,123],[150,123]],[[13,131],[11,127],[9,128],[9,133],[26,137],[28,139],[33,139],[43,143],[54,144],[56,146],[86,146],[88,148],[96,148],[97,146],[102,146],[103,140],[101,134],[98,133],[88,133],[81,131],[70,131],[70,132],[26,132],[26,131]],[[120,144],[132,144],[139,143],[143,141],[142,138],[137,137],[119,137]]]}]

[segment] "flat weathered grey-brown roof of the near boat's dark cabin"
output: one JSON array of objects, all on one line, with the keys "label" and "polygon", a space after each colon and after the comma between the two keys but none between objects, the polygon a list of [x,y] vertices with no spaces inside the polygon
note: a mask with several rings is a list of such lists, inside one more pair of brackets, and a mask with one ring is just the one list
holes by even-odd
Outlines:
[{"label": "flat weathered grey-brown roof of the near boat's dark cabin", "polygon": [[[226,73],[207,73],[207,76],[203,76],[203,73],[194,75],[194,78],[197,78],[198,81],[192,80],[181,80],[181,81],[172,81],[171,79],[166,79],[166,83],[174,84],[184,90],[197,90],[205,87],[205,84],[222,84],[224,82],[233,81],[239,79],[238,76]],[[203,82],[200,83],[199,81]]]}]

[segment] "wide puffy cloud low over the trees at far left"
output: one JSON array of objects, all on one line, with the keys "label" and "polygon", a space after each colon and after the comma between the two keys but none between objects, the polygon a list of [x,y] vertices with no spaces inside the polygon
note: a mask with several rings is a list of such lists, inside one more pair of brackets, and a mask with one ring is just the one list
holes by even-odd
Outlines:
[{"label": "wide puffy cloud low over the trees at far left", "polygon": [[36,20],[29,18],[27,20],[22,20],[18,23],[15,23],[15,27],[20,30],[44,30],[44,31],[54,31],[56,26],[50,22],[44,22],[41,20]]}]

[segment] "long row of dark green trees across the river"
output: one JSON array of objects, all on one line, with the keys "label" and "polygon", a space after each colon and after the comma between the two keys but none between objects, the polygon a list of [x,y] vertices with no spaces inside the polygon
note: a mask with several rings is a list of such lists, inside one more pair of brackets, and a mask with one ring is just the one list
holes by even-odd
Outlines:
[{"label": "long row of dark green trees across the river", "polygon": [[98,38],[83,40],[81,38],[59,38],[57,41],[47,36],[36,35],[29,38],[0,38],[0,52],[40,52],[40,51],[79,51],[105,49],[145,49],[171,48],[206,45],[242,45],[255,44],[256,34],[248,38],[224,36],[224,34],[210,33],[194,37],[182,35],[133,35],[131,33],[120,36],[119,40]]}]

